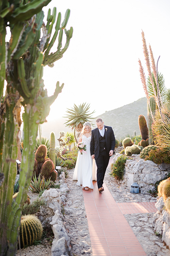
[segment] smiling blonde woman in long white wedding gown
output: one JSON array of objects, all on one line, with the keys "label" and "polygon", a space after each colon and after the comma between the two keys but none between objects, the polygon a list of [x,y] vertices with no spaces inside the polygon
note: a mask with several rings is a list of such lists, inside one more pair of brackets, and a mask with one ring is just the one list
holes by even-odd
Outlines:
[{"label": "smiling blonde woman in long white wedding gown", "polygon": [[79,151],[73,174],[73,180],[77,180],[76,185],[82,185],[82,188],[84,187],[85,190],[88,190],[89,188],[93,189],[94,186],[92,180],[97,180],[95,160],[91,158],[90,154],[90,141],[91,123],[87,121],[83,125],[79,138],[79,142],[83,142],[86,145],[86,151]]}]

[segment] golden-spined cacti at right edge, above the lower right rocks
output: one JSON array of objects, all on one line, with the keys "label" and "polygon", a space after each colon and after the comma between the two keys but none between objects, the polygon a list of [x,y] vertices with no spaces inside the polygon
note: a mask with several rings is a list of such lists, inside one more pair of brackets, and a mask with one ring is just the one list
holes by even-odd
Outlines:
[{"label": "golden-spined cacti at right edge, above the lower right rocks", "polygon": [[159,183],[158,197],[163,197],[165,208],[170,213],[170,178]]}]

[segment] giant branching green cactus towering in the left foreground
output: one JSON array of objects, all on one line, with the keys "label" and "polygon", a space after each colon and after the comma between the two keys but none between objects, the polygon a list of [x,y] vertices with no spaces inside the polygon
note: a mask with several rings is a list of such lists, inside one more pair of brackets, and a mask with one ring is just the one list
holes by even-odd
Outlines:
[{"label": "giant branching green cactus towering in the left foreground", "polygon": [[[4,101],[0,106],[0,255],[15,255],[21,211],[26,201],[34,166],[34,147],[38,124],[43,123],[50,105],[61,93],[64,84],[56,84],[54,95],[48,97],[44,90],[43,68],[54,66],[68,49],[73,29],[66,30],[70,10],[61,23],[61,13],[56,19],[56,8],[49,9],[45,24],[42,8],[51,0],[0,1],[0,95],[7,81]],[[11,39],[5,42],[6,27]],[[41,33],[42,31],[42,33]],[[52,31],[54,31],[52,37]],[[63,31],[66,43],[62,48]],[[50,53],[58,36],[57,50]],[[17,133],[20,130],[21,105],[24,107],[22,162],[20,166],[19,193],[13,202],[16,177]],[[8,178],[10,177],[10,179]]]}]

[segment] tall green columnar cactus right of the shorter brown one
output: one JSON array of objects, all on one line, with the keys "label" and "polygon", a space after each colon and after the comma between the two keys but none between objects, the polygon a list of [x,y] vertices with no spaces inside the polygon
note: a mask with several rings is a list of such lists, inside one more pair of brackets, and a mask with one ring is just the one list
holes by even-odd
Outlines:
[{"label": "tall green columnar cactus right of the shorter brown one", "polygon": [[149,103],[148,103],[149,145],[153,145],[152,123],[153,123],[153,117],[155,116],[155,112],[156,112],[156,100],[154,97],[150,97]]}]

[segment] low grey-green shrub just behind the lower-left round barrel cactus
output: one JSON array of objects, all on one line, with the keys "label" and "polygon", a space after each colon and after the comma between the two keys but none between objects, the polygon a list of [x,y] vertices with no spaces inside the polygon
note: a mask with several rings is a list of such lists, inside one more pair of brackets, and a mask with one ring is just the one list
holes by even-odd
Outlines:
[{"label": "low grey-green shrub just behind the lower-left round barrel cactus", "polygon": [[37,198],[30,204],[24,204],[22,209],[22,215],[36,214],[40,211],[40,206],[45,205],[43,199]]}]

